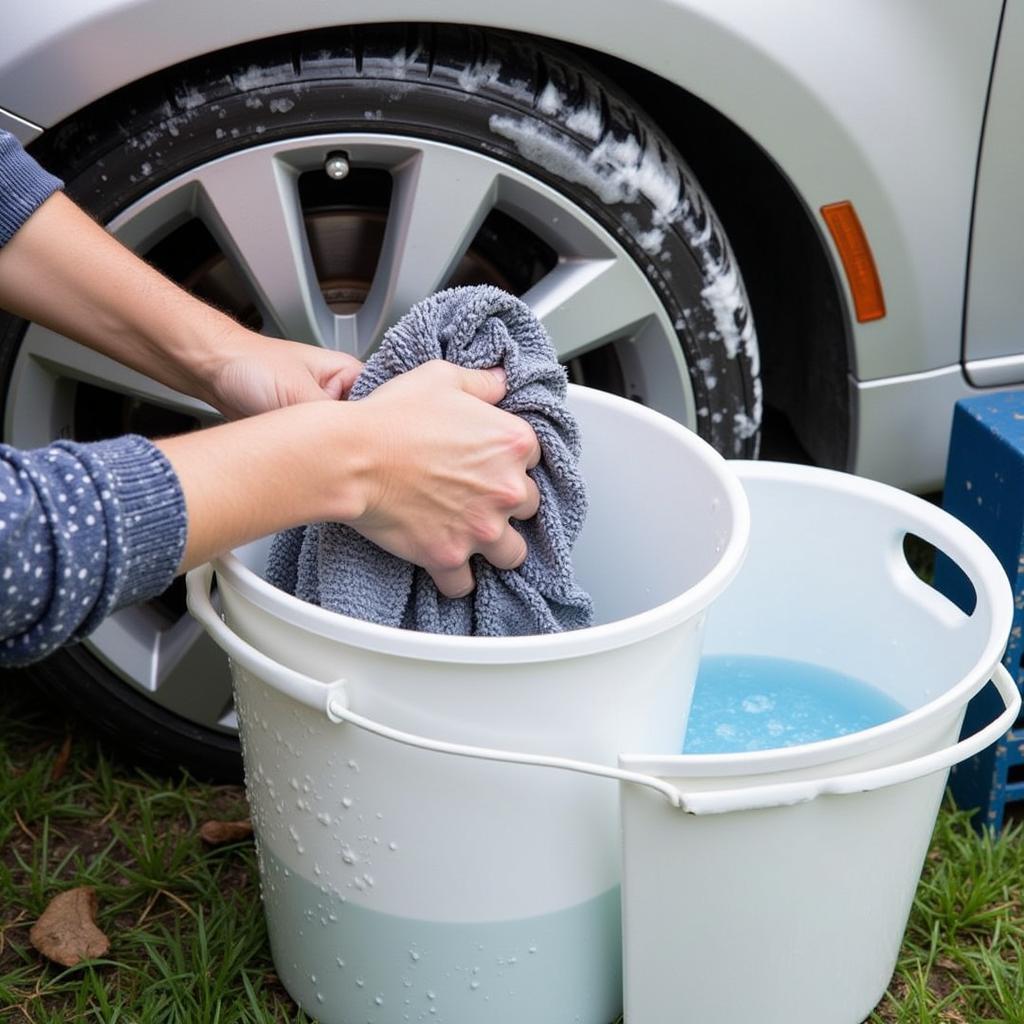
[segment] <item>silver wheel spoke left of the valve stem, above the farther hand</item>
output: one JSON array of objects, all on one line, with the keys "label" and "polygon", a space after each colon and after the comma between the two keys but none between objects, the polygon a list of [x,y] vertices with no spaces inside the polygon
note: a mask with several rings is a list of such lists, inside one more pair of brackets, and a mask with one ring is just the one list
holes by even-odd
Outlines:
[{"label": "silver wheel spoke left of the valve stem, above the farther hand", "polygon": [[197,176],[200,214],[248,281],[264,322],[283,338],[333,347],[335,317],[309,252],[298,171],[252,150],[215,161]]}]

